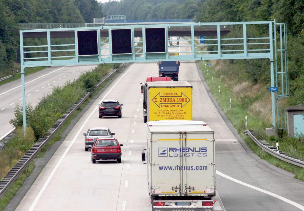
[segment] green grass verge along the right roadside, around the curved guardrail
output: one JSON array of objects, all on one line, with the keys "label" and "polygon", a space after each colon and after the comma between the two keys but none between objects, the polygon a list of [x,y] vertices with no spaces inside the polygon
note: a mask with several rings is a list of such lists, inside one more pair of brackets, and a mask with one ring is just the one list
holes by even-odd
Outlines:
[{"label": "green grass verge along the right roadside, around the curved guardrail", "polygon": [[[233,126],[237,129],[240,136],[243,138],[243,140],[248,144],[250,149],[257,154],[262,159],[268,161],[272,165],[275,165],[277,167],[280,167],[282,169],[285,169],[289,172],[292,172],[295,174],[295,178],[304,181],[304,169],[292,165],[290,163],[287,163],[285,161],[279,160],[270,154],[266,153],[264,150],[262,150],[260,147],[258,147],[253,140],[250,139],[247,135],[244,135],[244,130],[246,130],[245,127],[245,116],[248,117],[248,128],[255,129],[256,133],[260,136],[264,136],[264,123],[263,120],[261,120],[259,115],[251,115],[250,112],[244,107],[244,104],[237,101],[237,96],[233,94],[232,91],[230,91],[230,87],[227,87],[226,84],[223,82],[223,77],[220,75],[220,71],[215,71],[213,67],[209,66],[209,68],[205,68],[205,63],[208,63],[207,61],[200,61],[199,67],[202,71],[202,74],[204,76],[204,79],[206,83],[208,84],[210,91],[213,95],[213,97],[216,99],[217,103],[223,110],[223,112],[226,114],[226,116],[229,118]],[[209,71],[209,74],[207,74],[207,70]],[[212,80],[213,76],[213,80]],[[220,86],[220,93],[219,93],[219,86]],[[232,100],[232,107],[229,106],[229,100]],[[277,139],[270,137],[268,140],[270,143],[275,143]],[[281,139],[281,142],[283,139]],[[299,144],[299,143],[298,143]],[[300,144],[299,144],[300,145]],[[285,146],[286,150],[288,145]],[[303,145],[302,145],[303,146]],[[284,146],[282,146],[284,148]],[[285,149],[281,148],[283,151]],[[297,153],[297,157],[302,156],[302,148],[298,147],[297,149],[300,150]],[[291,152],[291,150],[289,150]],[[304,151],[304,150],[303,150]],[[295,152],[294,152],[295,153]],[[292,155],[292,152],[290,153]],[[302,158],[303,159],[303,158]]]}]

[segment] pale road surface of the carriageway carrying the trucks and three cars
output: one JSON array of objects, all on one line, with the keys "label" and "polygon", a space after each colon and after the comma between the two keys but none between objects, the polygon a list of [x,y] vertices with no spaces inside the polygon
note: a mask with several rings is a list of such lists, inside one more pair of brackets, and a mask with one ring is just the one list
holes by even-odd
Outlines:
[{"label": "pale road surface of the carriageway carrying the trucks and three cars", "polygon": [[[140,82],[157,73],[156,63],[130,65],[75,124],[16,210],[151,210],[147,166],[141,162],[146,129]],[[215,210],[304,210],[304,183],[241,146],[210,100],[194,62],[181,62],[179,80],[193,86],[193,120],[205,121],[216,134],[216,199],[224,206],[217,202]],[[98,118],[97,104],[103,99],[123,104],[121,119]],[[89,127],[109,127],[116,134],[124,145],[122,163],[91,162],[82,136]]]}]

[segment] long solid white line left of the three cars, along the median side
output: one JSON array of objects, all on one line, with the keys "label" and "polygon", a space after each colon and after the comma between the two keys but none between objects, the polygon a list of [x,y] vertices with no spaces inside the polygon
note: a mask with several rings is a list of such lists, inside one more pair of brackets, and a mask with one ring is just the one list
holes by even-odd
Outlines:
[{"label": "long solid white line left of the three cars, along the median side", "polygon": [[[108,94],[113,90],[113,88],[119,83],[119,81],[134,67],[136,63],[134,63],[130,69],[128,71],[126,71],[125,74],[123,74],[117,81],[116,83],[112,86],[112,88],[105,94],[105,96],[100,100],[99,104],[101,104],[101,102],[108,96]],[[88,120],[92,117],[93,114],[95,114],[96,110],[97,110],[98,106],[95,107],[95,109],[92,111],[92,113],[88,116],[88,118],[85,120],[85,122],[81,125],[80,129],[78,130],[78,132],[76,133],[76,135],[74,136],[73,140],[71,141],[71,143],[69,144],[69,146],[66,148],[66,150],[64,151],[63,155],[61,156],[60,160],[58,161],[58,163],[56,164],[56,166],[54,167],[54,169],[52,170],[52,172],[50,173],[50,176],[47,178],[47,181],[45,181],[43,187],[40,189],[40,192],[38,193],[38,195],[36,196],[35,200],[33,201],[31,207],[29,208],[29,211],[33,211],[33,209],[35,208],[36,204],[38,203],[38,200],[40,199],[40,197],[42,196],[44,190],[47,188],[47,185],[50,183],[52,177],[54,176],[56,170],[58,169],[58,167],[60,166],[61,162],[63,161],[64,157],[67,155],[68,151],[70,150],[70,148],[72,147],[72,145],[74,144],[75,140],[77,139],[77,137],[79,136],[80,132],[83,130],[83,128],[85,127],[85,124],[87,124]]]}]

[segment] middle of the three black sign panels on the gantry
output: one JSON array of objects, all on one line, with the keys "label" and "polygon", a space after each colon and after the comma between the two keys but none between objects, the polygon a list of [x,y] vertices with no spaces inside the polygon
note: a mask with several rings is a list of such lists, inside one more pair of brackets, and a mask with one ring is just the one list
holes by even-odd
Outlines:
[{"label": "middle of the three black sign panels on the gantry", "polygon": [[111,44],[112,54],[132,54],[131,29],[111,29]]}]

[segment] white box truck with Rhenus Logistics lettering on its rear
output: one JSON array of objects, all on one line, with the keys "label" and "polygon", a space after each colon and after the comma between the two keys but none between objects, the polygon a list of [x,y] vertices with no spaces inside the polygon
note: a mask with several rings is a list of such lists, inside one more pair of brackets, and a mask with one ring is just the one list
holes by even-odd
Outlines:
[{"label": "white box truck with Rhenus Logistics lettering on its rear", "polygon": [[[146,151],[146,152],[144,152]],[[214,131],[202,121],[147,122],[148,189],[152,211],[212,211]]]}]

